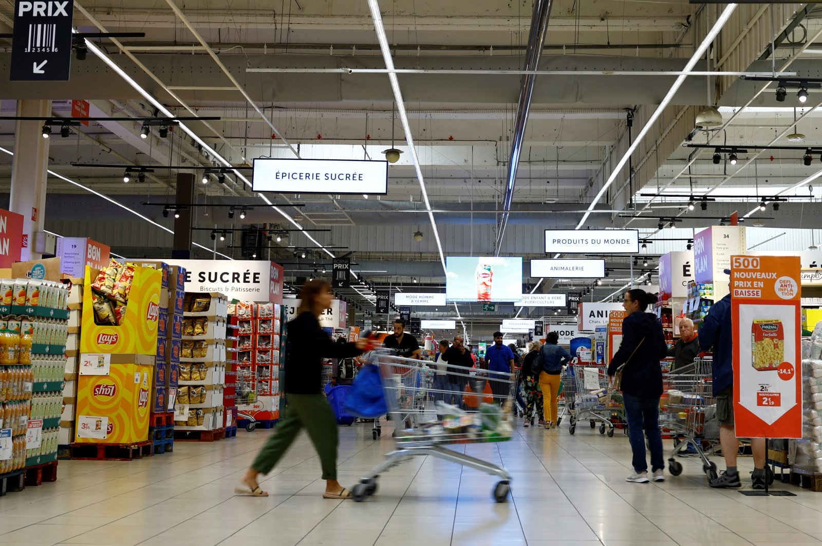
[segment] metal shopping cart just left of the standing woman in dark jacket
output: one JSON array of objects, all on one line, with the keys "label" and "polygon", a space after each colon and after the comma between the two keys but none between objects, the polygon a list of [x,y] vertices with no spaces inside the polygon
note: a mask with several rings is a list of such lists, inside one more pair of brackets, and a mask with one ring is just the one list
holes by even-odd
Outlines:
[{"label": "metal shopping cart just left of the standing woman in dark jacket", "polygon": [[[614,435],[612,417],[623,408],[622,395],[608,391],[607,366],[577,364],[568,366],[562,376],[566,393],[566,410],[570,415],[568,432],[576,431],[576,423],[588,419],[591,428],[599,423],[599,433]],[[565,411],[563,411],[565,414]]]}]

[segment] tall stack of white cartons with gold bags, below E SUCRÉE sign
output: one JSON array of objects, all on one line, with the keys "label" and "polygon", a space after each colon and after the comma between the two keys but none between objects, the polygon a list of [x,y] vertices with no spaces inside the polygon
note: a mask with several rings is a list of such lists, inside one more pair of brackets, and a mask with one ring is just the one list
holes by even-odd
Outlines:
[{"label": "tall stack of white cartons with gold bags, below E SUCR\u00c9E sign", "polygon": [[187,293],[182,303],[182,343],[174,437],[215,441],[224,437],[227,300],[222,294]]}]

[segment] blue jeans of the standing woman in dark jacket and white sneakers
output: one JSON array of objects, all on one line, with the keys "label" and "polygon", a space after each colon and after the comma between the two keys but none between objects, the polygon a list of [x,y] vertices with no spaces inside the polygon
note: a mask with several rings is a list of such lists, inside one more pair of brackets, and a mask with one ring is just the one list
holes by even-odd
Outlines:
[{"label": "blue jeans of the standing woman in dark jacket and white sneakers", "polygon": [[651,468],[661,470],[665,468],[663,456],[663,436],[659,432],[659,397],[640,398],[638,396],[622,395],[625,401],[625,415],[628,419],[628,440],[630,451],[634,457],[631,464],[635,472],[647,472],[648,461],[645,459],[645,439],[643,431],[648,437],[651,448]]}]

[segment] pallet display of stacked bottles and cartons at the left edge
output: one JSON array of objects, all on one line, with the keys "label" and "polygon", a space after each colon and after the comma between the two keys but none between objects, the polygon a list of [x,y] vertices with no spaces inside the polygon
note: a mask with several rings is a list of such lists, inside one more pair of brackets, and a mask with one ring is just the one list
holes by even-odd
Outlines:
[{"label": "pallet display of stacked bottles and cartons at the left edge", "polygon": [[58,282],[0,280],[0,494],[20,488],[24,470],[57,465],[67,294]]}]

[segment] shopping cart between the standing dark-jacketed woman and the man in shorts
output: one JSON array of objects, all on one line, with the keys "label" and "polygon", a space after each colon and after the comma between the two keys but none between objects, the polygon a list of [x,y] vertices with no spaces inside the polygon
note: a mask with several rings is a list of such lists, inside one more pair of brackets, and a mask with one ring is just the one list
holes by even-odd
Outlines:
[{"label": "shopping cart between the standing dark-jacketed woman and the man in shorts", "polygon": [[661,405],[667,411],[660,425],[663,433],[674,439],[668,459],[668,471],[674,476],[682,474],[682,465],[674,456],[686,455],[683,451],[688,451],[688,455],[700,457],[708,479],[717,477],[717,465],[708,460],[704,451],[706,446],[716,446],[719,441],[712,364],[710,357],[697,358],[663,374],[665,394]]}]

